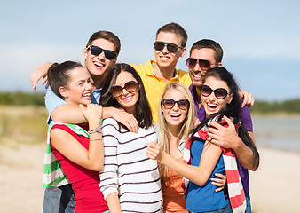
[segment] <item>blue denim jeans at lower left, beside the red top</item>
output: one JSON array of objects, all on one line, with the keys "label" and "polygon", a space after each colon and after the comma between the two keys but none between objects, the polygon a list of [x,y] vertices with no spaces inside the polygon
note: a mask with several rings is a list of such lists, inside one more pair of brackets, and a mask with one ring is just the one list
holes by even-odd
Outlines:
[{"label": "blue denim jeans at lower left, beside the red top", "polygon": [[74,213],[74,209],[75,194],[70,184],[45,188],[43,213]]}]

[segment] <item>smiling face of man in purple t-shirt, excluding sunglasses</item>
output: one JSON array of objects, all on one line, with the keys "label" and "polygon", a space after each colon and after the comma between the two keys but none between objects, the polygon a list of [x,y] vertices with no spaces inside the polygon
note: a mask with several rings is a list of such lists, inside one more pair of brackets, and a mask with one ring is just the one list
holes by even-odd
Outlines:
[{"label": "smiling face of man in purple t-shirt, excluding sunglasses", "polygon": [[[210,48],[201,48],[201,49],[194,49],[191,53],[191,58],[193,59],[204,59],[209,60],[211,67],[217,67],[222,66],[222,64],[216,65],[216,51]],[[197,63],[195,67],[189,68],[188,73],[191,77],[193,86],[195,87],[201,87],[202,85],[202,79],[205,75],[206,71],[201,70],[201,67]]]}]

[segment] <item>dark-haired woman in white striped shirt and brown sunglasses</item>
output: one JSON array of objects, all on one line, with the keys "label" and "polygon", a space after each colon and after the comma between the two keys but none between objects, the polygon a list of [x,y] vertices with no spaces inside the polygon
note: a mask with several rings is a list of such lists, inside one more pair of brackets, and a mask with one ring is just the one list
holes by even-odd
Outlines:
[{"label": "dark-haired woman in white striped shirt and brown sunglasses", "polygon": [[162,212],[157,162],[146,157],[146,144],[157,142],[151,109],[137,71],[115,64],[104,79],[100,105],[122,108],[138,121],[138,133],[113,118],[102,123],[105,148],[100,190],[114,212]]}]

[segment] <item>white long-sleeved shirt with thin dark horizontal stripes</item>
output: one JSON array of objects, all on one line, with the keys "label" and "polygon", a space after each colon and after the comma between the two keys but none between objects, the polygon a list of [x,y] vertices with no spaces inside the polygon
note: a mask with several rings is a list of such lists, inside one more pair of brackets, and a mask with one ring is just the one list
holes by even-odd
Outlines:
[{"label": "white long-sleeved shirt with thin dark horizontal stripes", "polygon": [[102,125],[105,159],[99,187],[105,199],[118,193],[122,212],[162,212],[157,162],[146,157],[146,143],[157,141],[154,128],[134,133],[113,118]]}]

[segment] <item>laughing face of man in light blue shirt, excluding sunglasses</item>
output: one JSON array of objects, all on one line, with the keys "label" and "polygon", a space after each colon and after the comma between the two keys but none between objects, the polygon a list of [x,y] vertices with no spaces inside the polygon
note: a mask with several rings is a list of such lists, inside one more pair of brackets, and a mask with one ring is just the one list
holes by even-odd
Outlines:
[{"label": "laughing face of man in light blue shirt, excluding sunglasses", "polygon": [[[99,38],[92,41],[91,45],[98,46],[103,50],[115,51],[114,43],[107,41],[106,39]],[[88,68],[92,76],[100,76],[102,79],[106,74],[106,71],[112,67],[116,61],[114,59],[107,59],[105,57],[104,51],[101,52],[98,56],[91,54],[91,50],[84,49],[84,58],[85,58],[85,67]]]}]

